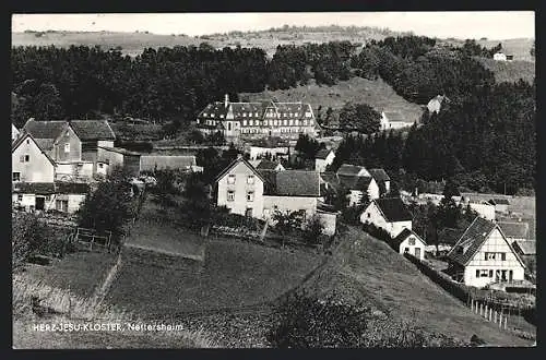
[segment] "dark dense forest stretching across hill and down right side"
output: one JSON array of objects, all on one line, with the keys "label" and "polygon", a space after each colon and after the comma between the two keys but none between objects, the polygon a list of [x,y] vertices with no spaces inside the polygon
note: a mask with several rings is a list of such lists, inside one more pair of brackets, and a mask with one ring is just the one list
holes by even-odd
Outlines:
[{"label": "dark dense forest stretching across hill and down right side", "polygon": [[360,153],[363,161],[377,158],[387,168],[430,180],[458,176],[471,189],[498,191],[502,182],[515,192],[534,188],[535,81],[497,83],[475,58],[494,51],[473,40],[439,45],[420,36],[387,37],[365,47],[351,41],[278,46],[272,59],[259,48],[207,44],[147,48],[134,58],[99,47],[14,47],[12,122],[106,113],[165,124],[176,135],[224,94],[237,100],[240,93],[287,89],[311,79],[322,86],[354,76],[382,79],[408,101],[424,105],[442,94],[449,104],[438,116],[425,116],[423,125],[393,147],[403,155],[385,158],[381,145]]}]

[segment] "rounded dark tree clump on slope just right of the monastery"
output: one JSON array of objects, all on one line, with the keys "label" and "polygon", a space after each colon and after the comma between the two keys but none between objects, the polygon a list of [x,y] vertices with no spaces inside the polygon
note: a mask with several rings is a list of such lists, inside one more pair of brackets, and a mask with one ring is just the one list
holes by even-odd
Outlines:
[{"label": "rounded dark tree clump on slope just right of the monastery", "polygon": [[346,103],[340,112],[340,127],[346,130],[357,130],[365,134],[379,131],[381,115],[366,104]]}]

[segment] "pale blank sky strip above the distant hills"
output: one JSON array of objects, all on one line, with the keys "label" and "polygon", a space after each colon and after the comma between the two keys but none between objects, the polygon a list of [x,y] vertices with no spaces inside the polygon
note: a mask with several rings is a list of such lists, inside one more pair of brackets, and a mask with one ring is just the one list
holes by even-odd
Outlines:
[{"label": "pale blank sky strip above the distant hills", "polygon": [[299,12],[299,13],[138,13],[13,14],[12,32],[78,31],[186,34],[190,36],[259,31],[287,25],[388,27],[431,37],[534,38],[533,11],[465,12]]}]

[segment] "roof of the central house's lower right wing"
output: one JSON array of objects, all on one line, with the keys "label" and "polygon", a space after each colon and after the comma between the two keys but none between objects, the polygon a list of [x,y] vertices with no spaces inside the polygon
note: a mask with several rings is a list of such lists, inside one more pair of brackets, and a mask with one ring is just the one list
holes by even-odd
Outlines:
[{"label": "roof of the central house's lower right wing", "polygon": [[320,196],[320,176],[317,171],[277,171],[275,180],[275,195]]}]

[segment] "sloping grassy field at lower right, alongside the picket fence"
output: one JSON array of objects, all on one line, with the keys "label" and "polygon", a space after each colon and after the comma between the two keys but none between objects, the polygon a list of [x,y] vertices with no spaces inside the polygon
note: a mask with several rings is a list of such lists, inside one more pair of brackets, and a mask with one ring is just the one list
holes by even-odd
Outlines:
[{"label": "sloping grassy field at lower right, alongside the picket fence", "polygon": [[393,320],[405,320],[428,332],[462,340],[473,334],[489,345],[531,343],[498,329],[472,313],[385,243],[351,228],[335,261],[306,283],[317,293],[336,291],[347,300],[364,300]]}]

